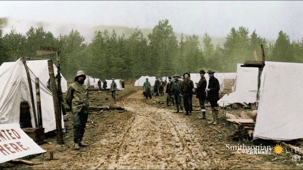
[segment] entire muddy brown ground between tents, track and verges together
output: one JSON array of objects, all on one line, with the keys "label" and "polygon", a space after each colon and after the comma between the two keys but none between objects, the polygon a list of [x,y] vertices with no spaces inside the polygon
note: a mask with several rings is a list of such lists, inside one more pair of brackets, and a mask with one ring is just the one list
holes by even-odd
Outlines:
[{"label": "entire muddy brown ground between tents, track and verges together", "polygon": [[[285,169],[301,168],[291,162],[291,155],[247,155],[226,150],[226,144],[245,141],[231,139],[232,125],[208,125],[191,116],[176,114],[172,106],[163,104],[165,97],[145,100],[141,88],[118,91],[118,100],[108,91],[91,92],[91,105],[123,105],[124,112],[115,110],[89,115],[84,141],[89,146],[73,150],[72,125],[65,122],[68,132],[65,145],[56,138],[40,145],[47,152],[28,158],[43,164],[27,166],[0,164],[2,169]],[[196,102],[196,99],[193,98]],[[234,111],[234,110],[230,110]],[[239,110],[237,110],[239,112]],[[222,110],[220,111],[222,114]],[[210,111],[207,112],[210,118]],[[71,120],[70,114],[68,118]],[[93,122],[93,123],[91,123]],[[213,128],[221,131],[217,132]],[[246,144],[250,144],[246,141]],[[54,160],[48,160],[49,152]],[[275,160],[273,158],[277,157]]]}]

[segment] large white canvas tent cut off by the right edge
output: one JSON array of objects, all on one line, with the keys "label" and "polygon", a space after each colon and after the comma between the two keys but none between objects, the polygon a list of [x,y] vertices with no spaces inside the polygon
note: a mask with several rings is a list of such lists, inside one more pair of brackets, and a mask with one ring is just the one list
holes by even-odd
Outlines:
[{"label": "large white canvas tent cut off by the right edge", "polygon": [[303,64],[266,62],[261,76],[254,139],[303,138]]}]

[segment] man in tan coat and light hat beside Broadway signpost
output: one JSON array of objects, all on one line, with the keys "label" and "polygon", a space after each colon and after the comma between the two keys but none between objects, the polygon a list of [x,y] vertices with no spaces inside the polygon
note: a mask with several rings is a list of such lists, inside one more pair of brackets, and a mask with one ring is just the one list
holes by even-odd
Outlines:
[{"label": "man in tan coat and light hat beside Broadway signpost", "polygon": [[84,85],[86,76],[83,71],[78,71],[75,77],[75,83],[71,84],[66,93],[66,103],[73,113],[74,124],[74,149],[80,149],[86,146],[82,143],[85,126],[88,118],[88,90]]}]

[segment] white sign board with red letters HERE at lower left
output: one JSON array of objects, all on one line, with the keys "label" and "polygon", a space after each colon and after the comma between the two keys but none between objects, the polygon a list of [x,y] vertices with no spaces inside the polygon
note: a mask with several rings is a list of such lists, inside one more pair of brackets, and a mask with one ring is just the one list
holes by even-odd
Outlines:
[{"label": "white sign board with red letters HERE at lower left", "polygon": [[19,124],[0,124],[0,163],[43,152]]}]

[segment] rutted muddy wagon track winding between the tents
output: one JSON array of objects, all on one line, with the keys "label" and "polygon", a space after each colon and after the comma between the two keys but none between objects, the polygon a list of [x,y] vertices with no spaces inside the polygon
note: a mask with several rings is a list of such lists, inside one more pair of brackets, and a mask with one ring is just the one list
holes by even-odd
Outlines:
[{"label": "rutted muddy wagon track winding between the tents", "polygon": [[132,123],[118,145],[115,159],[97,168],[211,168],[214,162],[210,161],[210,153],[180,116],[146,104],[140,94],[138,91],[121,101],[135,113]]}]

